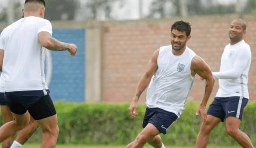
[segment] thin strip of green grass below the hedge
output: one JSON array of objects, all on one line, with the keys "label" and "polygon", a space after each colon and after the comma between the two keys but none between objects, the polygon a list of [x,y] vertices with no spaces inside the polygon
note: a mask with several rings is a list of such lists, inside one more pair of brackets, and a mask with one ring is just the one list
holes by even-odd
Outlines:
[{"label": "thin strip of green grass below the hedge", "polygon": [[[40,148],[40,144],[25,144],[22,148]],[[57,145],[56,148],[125,148],[125,146],[86,146],[86,145]],[[152,148],[151,146],[144,146],[144,148]],[[195,148],[194,146],[166,146],[166,148]],[[222,146],[208,146],[207,148],[241,148],[241,147],[222,147]]]}]

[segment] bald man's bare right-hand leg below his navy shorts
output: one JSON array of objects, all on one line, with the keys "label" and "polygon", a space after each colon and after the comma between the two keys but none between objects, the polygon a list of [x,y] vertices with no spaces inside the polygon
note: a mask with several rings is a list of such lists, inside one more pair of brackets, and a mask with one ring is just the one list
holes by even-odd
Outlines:
[{"label": "bald man's bare right-hand leg below his navy shorts", "polygon": [[234,138],[243,148],[254,148],[250,138],[241,130],[239,130],[241,120],[236,117],[226,118],[227,133]]}]

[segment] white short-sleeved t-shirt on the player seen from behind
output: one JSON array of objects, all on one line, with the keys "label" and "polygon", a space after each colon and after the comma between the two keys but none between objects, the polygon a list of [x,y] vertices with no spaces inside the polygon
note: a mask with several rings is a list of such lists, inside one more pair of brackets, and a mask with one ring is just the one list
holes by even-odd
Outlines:
[{"label": "white short-sleeved t-shirt on the player seen from behind", "polygon": [[22,18],[2,31],[2,74],[5,76],[6,92],[43,90],[46,93],[46,49],[38,40],[40,32],[49,32],[52,35],[52,24],[46,19],[34,16]]}]

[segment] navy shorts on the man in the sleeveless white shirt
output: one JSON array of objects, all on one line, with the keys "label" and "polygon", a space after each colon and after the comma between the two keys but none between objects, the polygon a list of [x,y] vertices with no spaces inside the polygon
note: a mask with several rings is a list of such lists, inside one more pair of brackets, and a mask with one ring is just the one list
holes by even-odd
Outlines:
[{"label": "navy shorts on the man in the sleeveless white shirt", "polygon": [[142,121],[142,127],[145,128],[148,123],[153,124],[160,133],[166,134],[168,128],[178,116],[172,112],[165,111],[159,108],[146,108],[146,112]]}]

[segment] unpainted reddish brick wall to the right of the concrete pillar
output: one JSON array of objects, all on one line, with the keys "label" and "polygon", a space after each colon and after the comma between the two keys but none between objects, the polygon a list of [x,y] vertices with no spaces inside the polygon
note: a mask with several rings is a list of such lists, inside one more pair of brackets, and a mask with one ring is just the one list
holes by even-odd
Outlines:
[{"label": "unpainted reddish brick wall to the right of the concrete pillar", "polygon": [[[188,47],[201,56],[218,71],[224,46],[229,42],[229,21],[197,23],[192,22],[192,37]],[[256,100],[256,21],[248,22],[245,41],[252,49],[252,65],[249,75],[250,99]],[[108,26],[102,33],[102,95],[108,102],[130,102],[138,81],[146,70],[152,53],[160,46],[170,44],[169,23],[155,26]],[[210,100],[216,95],[218,81]],[[188,100],[200,101],[204,95],[204,81],[196,77]],[[144,91],[140,101],[146,99]]]}]

